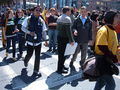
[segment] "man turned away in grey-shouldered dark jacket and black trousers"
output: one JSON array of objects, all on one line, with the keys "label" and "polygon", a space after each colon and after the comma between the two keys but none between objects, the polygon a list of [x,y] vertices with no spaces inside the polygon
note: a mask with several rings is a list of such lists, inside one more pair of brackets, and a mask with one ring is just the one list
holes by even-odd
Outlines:
[{"label": "man turned away in grey-shouldered dark jacket and black trousers", "polygon": [[70,7],[65,6],[62,10],[63,14],[57,20],[58,30],[58,68],[57,73],[67,73],[68,68],[64,66],[66,56],[64,56],[67,43],[74,45],[74,39],[71,30]]}]

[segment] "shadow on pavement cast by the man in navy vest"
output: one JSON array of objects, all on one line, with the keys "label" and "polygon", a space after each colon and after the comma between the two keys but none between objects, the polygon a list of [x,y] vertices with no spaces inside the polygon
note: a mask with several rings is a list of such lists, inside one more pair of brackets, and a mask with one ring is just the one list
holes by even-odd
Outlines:
[{"label": "shadow on pavement cast by the man in navy vest", "polygon": [[10,90],[22,90],[22,88],[28,86],[36,79],[38,78],[34,76],[28,76],[26,68],[23,68],[21,75],[14,77],[11,81],[11,84],[7,84],[5,88]]}]

